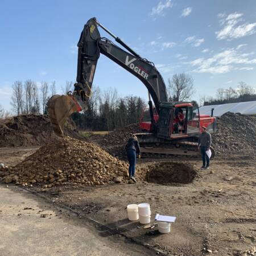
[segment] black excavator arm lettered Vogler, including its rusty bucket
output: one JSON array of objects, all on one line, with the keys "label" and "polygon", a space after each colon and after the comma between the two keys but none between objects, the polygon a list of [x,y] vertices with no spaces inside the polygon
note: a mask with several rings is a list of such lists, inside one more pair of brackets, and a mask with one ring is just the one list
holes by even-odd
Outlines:
[{"label": "black excavator arm lettered Vogler, including its rusty bucket", "polygon": [[[115,45],[107,38],[101,38],[98,26],[113,36],[116,42],[127,51]],[[73,93],[68,96],[53,96],[50,99],[49,115],[55,132],[63,135],[63,125],[73,112],[86,110],[92,93],[94,73],[100,53],[109,57],[115,63],[132,73],[148,89],[149,98],[152,97],[156,111],[159,113],[160,102],[167,101],[166,85],[163,78],[150,61],[143,59],[133,49],[122,42],[112,32],[102,26],[96,18],[89,19],[81,32],[78,46],[77,78]],[[149,99],[152,112],[152,102]],[[152,116],[152,122],[154,117]]]}]

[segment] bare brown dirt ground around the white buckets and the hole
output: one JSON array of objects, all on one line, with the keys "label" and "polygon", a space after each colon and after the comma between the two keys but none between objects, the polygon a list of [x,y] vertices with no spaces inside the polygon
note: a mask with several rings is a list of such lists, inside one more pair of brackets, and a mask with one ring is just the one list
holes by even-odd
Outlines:
[{"label": "bare brown dirt ground around the white buckets and the hole", "polygon": [[[0,149],[0,162],[16,164],[24,154],[34,150]],[[146,162],[152,160],[159,161]],[[201,165],[195,159],[179,161]],[[145,160],[139,164],[142,162]],[[101,232],[110,228],[164,254],[204,255],[212,251],[213,255],[243,255],[243,251],[256,246],[255,156],[214,159],[210,170],[200,171],[200,176],[189,184],[160,185],[144,181],[99,187],[34,188],[33,191],[79,213],[80,218],[99,222]],[[170,234],[159,234],[156,229],[148,231],[139,222],[127,220],[126,205],[143,202],[151,205],[152,223],[155,213],[177,217]]]}]

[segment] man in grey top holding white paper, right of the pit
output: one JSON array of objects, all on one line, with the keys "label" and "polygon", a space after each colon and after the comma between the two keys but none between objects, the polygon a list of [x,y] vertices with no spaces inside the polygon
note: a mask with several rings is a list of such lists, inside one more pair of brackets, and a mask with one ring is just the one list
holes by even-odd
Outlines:
[{"label": "man in grey top holding white paper, right of the pit", "polygon": [[[201,169],[209,169],[210,159],[206,154],[206,151],[210,149],[210,143],[212,143],[212,137],[207,131],[207,127],[202,126],[203,133],[200,134],[199,141],[198,141],[198,149],[200,149],[203,166]],[[206,164],[205,164],[206,162]]]}]

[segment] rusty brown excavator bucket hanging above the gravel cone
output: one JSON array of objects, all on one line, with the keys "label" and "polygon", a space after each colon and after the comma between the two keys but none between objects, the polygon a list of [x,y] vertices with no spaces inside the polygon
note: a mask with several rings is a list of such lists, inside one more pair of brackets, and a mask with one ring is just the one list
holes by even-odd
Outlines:
[{"label": "rusty brown excavator bucket hanging above the gravel cone", "polygon": [[49,99],[49,118],[55,133],[63,137],[63,127],[69,115],[76,112],[77,103],[71,95],[53,95]]}]

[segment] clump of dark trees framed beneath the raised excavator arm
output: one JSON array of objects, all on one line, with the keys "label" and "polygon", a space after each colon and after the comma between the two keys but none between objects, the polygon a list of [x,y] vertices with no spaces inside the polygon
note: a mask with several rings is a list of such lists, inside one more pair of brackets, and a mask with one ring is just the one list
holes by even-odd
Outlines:
[{"label": "clump of dark trees framed beneath the raised excavator arm", "polygon": [[76,126],[83,130],[114,130],[119,127],[138,123],[146,102],[137,96],[118,97],[117,90],[109,88],[101,93],[94,86],[88,110],[73,113]]}]

